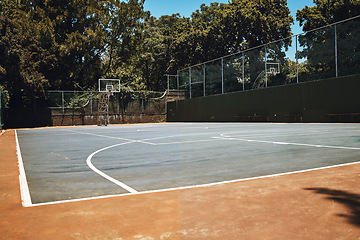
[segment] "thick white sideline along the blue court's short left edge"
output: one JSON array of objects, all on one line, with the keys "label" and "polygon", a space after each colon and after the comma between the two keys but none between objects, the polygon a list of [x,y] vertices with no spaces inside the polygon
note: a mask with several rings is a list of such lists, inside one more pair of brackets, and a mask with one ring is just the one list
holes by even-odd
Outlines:
[{"label": "thick white sideline along the blue court's short left edge", "polygon": [[19,182],[20,182],[20,194],[21,194],[22,205],[24,207],[30,207],[32,206],[32,202],[31,202],[29,186],[26,179],[24,163],[21,156],[20,145],[16,130],[15,130],[15,141],[16,141],[16,155],[18,157],[19,172],[20,172]]}]

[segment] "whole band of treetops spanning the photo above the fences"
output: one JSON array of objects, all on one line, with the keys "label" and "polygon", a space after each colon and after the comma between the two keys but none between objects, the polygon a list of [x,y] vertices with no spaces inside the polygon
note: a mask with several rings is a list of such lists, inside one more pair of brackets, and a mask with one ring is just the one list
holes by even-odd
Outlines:
[{"label": "whole band of treetops spanning the photo above the fences", "polygon": [[[166,74],[290,37],[294,21],[287,0],[203,4],[188,18],[155,18],[144,1],[0,1],[0,85],[7,104],[45,104],[46,90],[96,89],[98,78],[163,90]],[[314,3],[297,14],[305,31],[359,14],[358,0]],[[288,38],[278,47],[290,44]]]}]

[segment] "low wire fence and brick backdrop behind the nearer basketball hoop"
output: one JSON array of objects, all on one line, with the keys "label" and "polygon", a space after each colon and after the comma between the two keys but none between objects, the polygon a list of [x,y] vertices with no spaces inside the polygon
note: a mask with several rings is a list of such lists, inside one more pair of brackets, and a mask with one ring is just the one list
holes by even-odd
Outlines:
[{"label": "low wire fence and brick backdrop behind the nearer basketball hoop", "polygon": [[[97,124],[99,102],[104,93],[94,91],[48,91],[53,125]],[[105,93],[106,94],[106,93]],[[109,98],[110,123],[159,122],[165,120],[163,92],[113,93]]]}]

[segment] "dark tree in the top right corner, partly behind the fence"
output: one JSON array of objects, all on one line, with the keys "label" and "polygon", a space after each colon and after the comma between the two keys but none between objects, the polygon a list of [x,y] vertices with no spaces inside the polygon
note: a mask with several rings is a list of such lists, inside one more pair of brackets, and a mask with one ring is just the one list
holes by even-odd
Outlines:
[{"label": "dark tree in the top right corner, partly behind the fence", "polygon": [[[314,0],[316,6],[298,10],[296,19],[306,31],[299,37],[303,50],[299,56],[307,59],[306,67],[316,78],[335,76],[335,27],[326,25],[358,16],[359,0]],[[337,24],[338,65],[340,74],[357,73],[360,66],[359,19]],[[319,29],[317,29],[319,28]],[[313,30],[317,29],[317,30]],[[349,66],[352,66],[351,68]]]}]

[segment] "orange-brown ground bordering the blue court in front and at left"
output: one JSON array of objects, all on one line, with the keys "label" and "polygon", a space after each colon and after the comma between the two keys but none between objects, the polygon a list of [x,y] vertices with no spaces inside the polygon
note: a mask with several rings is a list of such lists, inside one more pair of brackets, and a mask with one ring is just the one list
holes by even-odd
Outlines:
[{"label": "orange-brown ground bordering the blue court in front and at left", "polygon": [[[360,154],[360,153],[359,153]],[[0,239],[360,239],[360,164],[24,208],[15,131],[0,136]]]}]

